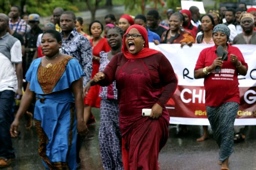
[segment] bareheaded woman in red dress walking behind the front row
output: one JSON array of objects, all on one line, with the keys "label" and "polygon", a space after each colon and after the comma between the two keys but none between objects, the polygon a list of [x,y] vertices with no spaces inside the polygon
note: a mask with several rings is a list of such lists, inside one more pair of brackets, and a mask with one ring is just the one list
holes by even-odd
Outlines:
[{"label": "bareheaded woman in red dress walking behind the front row", "polygon": [[[101,22],[95,20],[90,23],[89,32],[93,37],[90,39],[93,48],[93,72],[91,78],[99,72],[99,52],[108,52],[111,50],[107,39],[101,36],[102,31],[103,25]],[[100,107],[99,85],[91,87],[87,95],[84,97],[84,121],[87,122],[87,125],[95,122],[95,118],[91,113],[92,107]]]}]

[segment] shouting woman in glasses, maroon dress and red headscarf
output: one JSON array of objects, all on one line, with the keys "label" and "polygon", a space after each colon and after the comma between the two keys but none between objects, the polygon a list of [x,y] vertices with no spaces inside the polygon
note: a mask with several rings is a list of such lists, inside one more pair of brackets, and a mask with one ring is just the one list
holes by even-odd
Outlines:
[{"label": "shouting woman in glasses, maroon dress and red headscarf", "polygon": [[[125,170],[157,170],[158,155],[169,134],[164,105],[175,92],[177,79],[169,60],[148,48],[143,26],[130,26],[123,42],[122,53],[93,79],[102,86],[116,80]],[[143,108],[151,108],[150,116],[142,116]]]}]

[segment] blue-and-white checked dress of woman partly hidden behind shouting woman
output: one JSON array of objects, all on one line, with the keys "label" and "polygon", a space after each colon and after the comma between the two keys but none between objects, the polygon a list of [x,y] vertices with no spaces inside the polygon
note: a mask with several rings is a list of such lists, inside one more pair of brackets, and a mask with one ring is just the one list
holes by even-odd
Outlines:
[{"label": "blue-and-white checked dress of woman partly hidden behind shouting woman", "polygon": [[[108,65],[108,53],[100,52],[99,71]],[[116,81],[111,85],[101,87],[99,146],[102,165],[105,170],[123,170],[122,136],[119,130],[119,105],[117,101]]]}]

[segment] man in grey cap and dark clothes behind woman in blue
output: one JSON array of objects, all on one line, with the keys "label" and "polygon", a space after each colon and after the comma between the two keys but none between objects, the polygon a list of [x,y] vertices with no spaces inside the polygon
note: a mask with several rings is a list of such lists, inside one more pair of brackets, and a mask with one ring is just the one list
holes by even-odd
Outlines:
[{"label": "man in grey cap and dark clothes behind woman in blue", "polygon": [[39,28],[38,26],[39,19],[40,16],[38,14],[29,15],[29,25],[31,26],[31,30],[25,34],[26,67],[24,70],[24,75],[26,74],[26,70],[31,64],[35,51],[37,49],[36,42],[38,39],[38,35],[43,33],[41,28]]}]

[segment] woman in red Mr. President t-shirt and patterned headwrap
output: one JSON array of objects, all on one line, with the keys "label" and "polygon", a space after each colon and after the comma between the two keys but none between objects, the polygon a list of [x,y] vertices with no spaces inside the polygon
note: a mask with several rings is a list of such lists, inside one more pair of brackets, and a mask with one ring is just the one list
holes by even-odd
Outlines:
[{"label": "woman in red Mr. President t-shirt and patterned headwrap", "polygon": [[[204,78],[207,115],[220,148],[218,163],[221,170],[229,170],[228,159],[234,147],[233,126],[240,104],[237,77],[247,74],[248,65],[241,51],[227,44],[230,29],[226,25],[215,26],[212,36],[215,46],[201,51],[195,65],[195,79]],[[222,57],[225,54],[227,57]]]}]

